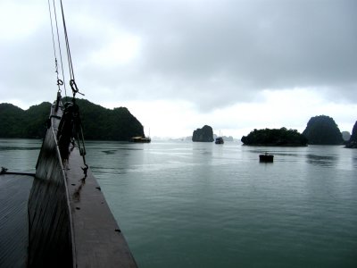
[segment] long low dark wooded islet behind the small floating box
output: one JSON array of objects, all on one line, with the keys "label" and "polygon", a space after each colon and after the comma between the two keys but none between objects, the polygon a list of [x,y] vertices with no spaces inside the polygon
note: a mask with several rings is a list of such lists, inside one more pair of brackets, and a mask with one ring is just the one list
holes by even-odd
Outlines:
[{"label": "long low dark wooded islet behind the small floating box", "polygon": [[246,146],[305,147],[307,145],[307,138],[297,130],[286,128],[253,130],[248,136],[243,136],[241,141]]}]

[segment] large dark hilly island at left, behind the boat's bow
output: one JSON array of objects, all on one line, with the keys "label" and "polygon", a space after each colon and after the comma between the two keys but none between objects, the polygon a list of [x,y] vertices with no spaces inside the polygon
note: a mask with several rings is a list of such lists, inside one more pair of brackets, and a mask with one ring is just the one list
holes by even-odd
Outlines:
[{"label": "large dark hilly island at left, behind the boat's bow", "polygon": [[[135,136],[145,137],[143,125],[127,108],[106,109],[86,99],[76,102],[86,139],[129,141]],[[0,104],[0,138],[43,138],[50,107],[44,102],[24,111],[15,105]]]}]

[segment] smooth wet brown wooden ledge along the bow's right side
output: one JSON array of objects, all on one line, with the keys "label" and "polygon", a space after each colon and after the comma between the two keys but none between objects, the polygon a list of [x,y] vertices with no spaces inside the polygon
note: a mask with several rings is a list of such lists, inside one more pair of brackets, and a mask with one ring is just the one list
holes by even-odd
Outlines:
[{"label": "smooth wet brown wooden ledge along the bow's right side", "polygon": [[78,267],[137,267],[101,188],[90,170],[86,180],[78,148],[65,167]]}]

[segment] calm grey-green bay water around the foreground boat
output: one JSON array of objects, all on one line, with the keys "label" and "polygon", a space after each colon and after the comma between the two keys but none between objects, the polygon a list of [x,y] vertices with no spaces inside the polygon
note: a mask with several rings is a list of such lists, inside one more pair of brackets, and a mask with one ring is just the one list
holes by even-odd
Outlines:
[{"label": "calm grey-green bay water around the foreground boat", "polygon": [[[0,164],[33,172],[40,142],[10,143]],[[87,142],[87,162],[139,267],[357,267],[357,150]]]}]

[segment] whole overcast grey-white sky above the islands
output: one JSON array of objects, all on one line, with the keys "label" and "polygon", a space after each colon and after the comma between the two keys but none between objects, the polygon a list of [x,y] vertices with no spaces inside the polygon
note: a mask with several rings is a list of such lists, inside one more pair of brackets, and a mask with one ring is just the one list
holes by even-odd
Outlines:
[{"label": "whole overcast grey-white sky above the islands", "polygon": [[[357,121],[355,0],[62,1],[79,90],[152,137]],[[54,100],[47,0],[0,1],[0,60],[0,103]]]}]

